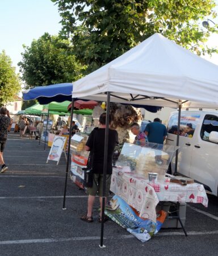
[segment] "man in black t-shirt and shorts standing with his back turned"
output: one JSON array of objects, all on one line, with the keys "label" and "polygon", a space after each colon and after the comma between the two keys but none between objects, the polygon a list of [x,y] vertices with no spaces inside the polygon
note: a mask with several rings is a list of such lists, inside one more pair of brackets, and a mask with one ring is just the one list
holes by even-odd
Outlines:
[{"label": "man in black t-shirt and shorts standing with his back turned", "polygon": [[[109,117],[109,124],[111,123],[111,117]],[[89,194],[88,210],[87,214],[81,216],[81,220],[86,222],[93,222],[93,204],[95,196],[99,192],[100,200],[100,214],[99,222],[106,221],[106,218],[102,220],[102,196],[103,196],[103,164],[104,164],[104,137],[106,128],[106,113],[102,113],[99,118],[99,128],[95,128],[86,142],[86,151],[91,151],[93,167],[93,187],[87,188]],[[112,174],[112,155],[116,144],[118,144],[118,132],[109,129],[108,132],[108,152],[107,152],[107,176],[106,176],[106,197],[110,191],[111,174]],[[105,200],[106,203],[106,200]]]}]

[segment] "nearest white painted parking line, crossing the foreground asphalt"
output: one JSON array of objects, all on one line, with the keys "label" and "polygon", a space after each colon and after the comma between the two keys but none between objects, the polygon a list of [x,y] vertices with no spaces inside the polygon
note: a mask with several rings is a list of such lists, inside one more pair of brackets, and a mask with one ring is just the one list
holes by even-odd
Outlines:
[{"label": "nearest white painted parking line, crossing the foreground asphalt", "polygon": [[[212,232],[187,232],[188,236],[205,236],[206,234],[218,234],[218,230]],[[185,236],[183,232],[163,232],[157,233],[156,236]],[[104,237],[104,240],[123,240],[133,237],[131,234],[123,236],[112,236]],[[84,240],[100,240],[100,237],[68,237],[68,238],[45,238],[45,239],[31,239],[31,240],[9,240],[9,241],[0,241],[0,245],[11,245],[19,243],[51,243],[51,242],[66,242],[66,241],[84,241]]]}]

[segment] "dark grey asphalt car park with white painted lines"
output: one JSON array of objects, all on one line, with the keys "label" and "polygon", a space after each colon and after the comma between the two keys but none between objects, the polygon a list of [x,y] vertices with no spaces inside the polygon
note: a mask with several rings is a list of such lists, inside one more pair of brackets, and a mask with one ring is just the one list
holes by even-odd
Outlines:
[{"label": "dark grey asphalt car park with white painted lines", "polygon": [[79,219],[86,212],[87,196],[68,177],[66,210],[62,209],[66,160],[46,163],[50,148],[35,139],[10,133],[4,151],[9,166],[0,174],[0,255],[217,255],[218,198],[209,205],[188,204],[185,228],[161,229],[140,242],[115,222],[104,224],[100,248],[98,199],[94,222]]}]

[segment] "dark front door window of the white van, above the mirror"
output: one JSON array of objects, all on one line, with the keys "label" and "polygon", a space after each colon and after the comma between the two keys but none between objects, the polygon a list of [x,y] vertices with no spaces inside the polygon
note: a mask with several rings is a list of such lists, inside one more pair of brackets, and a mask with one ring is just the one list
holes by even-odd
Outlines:
[{"label": "dark front door window of the white van, above the mirror", "polygon": [[218,132],[218,117],[216,115],[206,115],[200,130],[200,137],[203,141],[209,141],[209,134],[211,131]]}]

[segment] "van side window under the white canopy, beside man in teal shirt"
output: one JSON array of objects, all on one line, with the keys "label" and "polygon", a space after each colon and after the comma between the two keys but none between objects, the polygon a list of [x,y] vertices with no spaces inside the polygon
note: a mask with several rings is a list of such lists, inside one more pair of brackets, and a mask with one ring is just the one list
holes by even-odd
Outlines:
[{"label": "van side window under the white canopy, beside man in teal shirt", "polygon": [[[182,113],[180,118],[179,135],[183,137],[192,138],[195,132],[197,123],[199,122],[200,114]],[[178,134],[178,113],[171,115],[167,132],[171,134]]]}]

